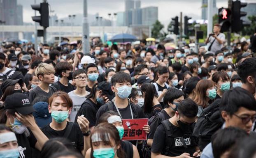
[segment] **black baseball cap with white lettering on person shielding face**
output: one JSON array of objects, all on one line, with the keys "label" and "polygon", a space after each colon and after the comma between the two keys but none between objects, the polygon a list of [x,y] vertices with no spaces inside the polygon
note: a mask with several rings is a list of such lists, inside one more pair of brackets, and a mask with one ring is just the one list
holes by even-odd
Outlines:
[{"label": "black baseball cap with white lettering on person shielding face", "polygon": [[28,96],[23,93],[14,93],[5,99],[5,109],[15,109],[17,112],[26,115],[35,111]]}]

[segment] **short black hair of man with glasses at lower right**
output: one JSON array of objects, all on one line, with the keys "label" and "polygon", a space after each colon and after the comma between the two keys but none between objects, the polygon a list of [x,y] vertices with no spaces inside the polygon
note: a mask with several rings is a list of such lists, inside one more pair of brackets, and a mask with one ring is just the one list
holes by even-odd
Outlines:
[{"label": "short black hair of man with glasses at lower right", "polygon": [[223,94],[219,106],[220,112],[226,111],[231,116],[242,107],[256,111],[256,100],[247,90],[235,87]]}]

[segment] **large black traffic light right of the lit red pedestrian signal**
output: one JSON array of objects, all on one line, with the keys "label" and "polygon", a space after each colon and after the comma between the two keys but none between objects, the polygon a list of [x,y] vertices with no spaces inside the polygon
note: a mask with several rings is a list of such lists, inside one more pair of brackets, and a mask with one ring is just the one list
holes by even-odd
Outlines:
[{"label": "large black traffic light right of the lit red pedestrian signal", "polygon": [[245,25],[245,23],[243,23],[243,20],[240,18],[242,16],[247,15],[247,12],[241,11],[241,8],[246,6],[247,6],[247,3],[240,2],[240,1],[232,1],[232,21],[231,21],[232,32],[241,31],[243,28],[243,25]]}]

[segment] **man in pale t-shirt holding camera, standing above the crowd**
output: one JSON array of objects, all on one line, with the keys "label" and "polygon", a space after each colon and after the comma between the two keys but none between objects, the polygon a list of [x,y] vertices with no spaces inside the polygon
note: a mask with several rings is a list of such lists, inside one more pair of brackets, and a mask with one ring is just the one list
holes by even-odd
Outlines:
[{"label": "man in pale t-shirt holding camera, standing above the crowd", "polygon": [[216,23],[213,27],[212,34],[209,34],[209,37],[206,40],[206,44],[208,44],[208,51],[210,53],[215,53],[217,50],[221,50],[225,42],[225,34],[220,33],[221,25]]}]

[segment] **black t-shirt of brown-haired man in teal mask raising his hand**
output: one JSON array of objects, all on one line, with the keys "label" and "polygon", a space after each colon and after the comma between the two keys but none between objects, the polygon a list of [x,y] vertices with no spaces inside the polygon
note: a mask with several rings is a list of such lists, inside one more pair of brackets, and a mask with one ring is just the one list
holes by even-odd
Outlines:
[{"label": "black t-shirt of brown-haired man in teal mask raising his hand", "polygon": [[[84,136],[82,131],[79,128],[78,124],[74,124],[72,122],[67,121],[68,124],[73,124],[70,134],[68,135],[67,139],[70,140],[70,142],[73,144],[74,148],[77,149],[79,152],[81,152],[84,149]],[[42,131],[44,134],[50,139],[55,137],[63,137],[65,134],[65,131],[67,130],[67,126],[62,131],[55,131],[50,127],[50,124],[47,126],[44,126],[42,128]]]}]

